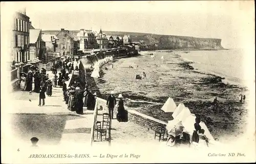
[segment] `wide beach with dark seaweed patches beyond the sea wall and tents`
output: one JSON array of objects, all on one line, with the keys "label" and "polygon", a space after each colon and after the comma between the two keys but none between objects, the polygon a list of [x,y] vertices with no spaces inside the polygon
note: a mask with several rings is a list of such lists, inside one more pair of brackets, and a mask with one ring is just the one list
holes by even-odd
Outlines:
[{"label": "wide beach with dark seaweed patches beyond the sea wall and tents", "polygon": [[[152,52],[156,58],[151,58]],[[238,96],[240,92],[247,94],[245,87],[223,83],[223,77],[193,68],[193,62],[182,58],[180,51],[140,53],[138,57],[114,60],[113,68],[112,63],[104,65],[104,75],[89,81],[89,89],[100,92],[100,97],[105,99],[111,91],[116,96],[121,93],[126,110],[133,109],[166,122],[172,118],[160,109],[171,97],[177,106],[184,103],[191,113],[200,116],[217,141],[244,132],[247,108]],[[143,71],[146,79],[135,79]],[[215,97],[220,101],[217,111],[212,108]]]}]

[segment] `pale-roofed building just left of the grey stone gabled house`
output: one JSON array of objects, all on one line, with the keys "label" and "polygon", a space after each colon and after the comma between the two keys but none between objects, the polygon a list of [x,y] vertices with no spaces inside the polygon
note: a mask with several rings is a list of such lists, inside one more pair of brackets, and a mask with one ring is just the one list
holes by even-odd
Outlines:
[{"label": "pale-roofed building just left of the grey stone gabled house", "polygon": [[56,51],[59,39],[55,35],[42,34],[42,40],[46,43],[46,59],[47,62],[59,58],[59,52]]}]

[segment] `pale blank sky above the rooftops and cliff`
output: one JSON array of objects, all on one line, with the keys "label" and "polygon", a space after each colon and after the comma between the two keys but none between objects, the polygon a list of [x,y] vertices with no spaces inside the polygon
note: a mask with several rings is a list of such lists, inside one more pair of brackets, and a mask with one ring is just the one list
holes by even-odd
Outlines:
[{"label": "pale blank sky above the rooftops and cliff", "polygon": [[[240,48],[254,38],[253,1],[15,2],[42,30],[93,29],[222,39]],[[4,4],[4,5],[6,5]],[[9,8],[9,9],[10,9]],[[253,40],[252,40],[253,39]]]}]

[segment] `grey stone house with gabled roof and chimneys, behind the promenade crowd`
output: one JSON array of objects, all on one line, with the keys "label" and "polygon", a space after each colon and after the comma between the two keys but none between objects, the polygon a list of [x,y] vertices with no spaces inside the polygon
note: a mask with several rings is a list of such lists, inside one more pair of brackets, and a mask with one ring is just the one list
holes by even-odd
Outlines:
[{"label": "grey stone house with gabled roof and chimneys, behind the promenade crowd", "polygon": [[70,31],[61,29],[56,35],[59,39],[56,51],[60,53],[60,56],[74,56],[74,36],[70,34]]}]

